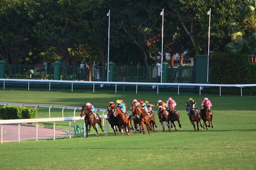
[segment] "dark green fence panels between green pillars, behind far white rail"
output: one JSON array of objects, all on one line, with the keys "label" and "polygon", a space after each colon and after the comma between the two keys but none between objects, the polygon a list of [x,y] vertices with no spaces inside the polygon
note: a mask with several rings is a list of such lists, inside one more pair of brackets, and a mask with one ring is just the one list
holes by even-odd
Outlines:
[{"label": "dark green fence panels between green pillars, behind far white rail", "polygon": [[[67,74],[63,74],[66,71]],[[107,67],[103,68],[99,65],[93,66],[92,81],[107,81]],[[61,80],[82,80],[89,81],[89,71],[86,66],[65,65],[60,67]],[[6,65],[6,77],[13,79],[53,79],[54,67],[47,65]],[[114,82],[161,82],[161,66],[154,68],[149,66],[125,66],[116,65],[114,68]],[[169,83],[195,83],[194,67],[169,67],[168,69]]]}]

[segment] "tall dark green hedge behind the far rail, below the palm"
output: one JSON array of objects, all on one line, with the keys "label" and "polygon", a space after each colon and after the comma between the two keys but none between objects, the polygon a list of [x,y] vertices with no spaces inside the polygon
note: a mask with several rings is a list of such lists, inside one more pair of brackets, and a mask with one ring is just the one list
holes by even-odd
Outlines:
[{"label": "tall dark green hedge behind the far rail, below the palm", "polygon": [[[211,84],[256,84],[256,63],[249,60],[249,55],[232,55],[216,52],[209,59],[209,82]],[[243,94],[256,94],[256,87],[242,89]],[[219,88],[211,88],[218,94]],[[221,88],[221,94],[237,95],[240,88]]]}]

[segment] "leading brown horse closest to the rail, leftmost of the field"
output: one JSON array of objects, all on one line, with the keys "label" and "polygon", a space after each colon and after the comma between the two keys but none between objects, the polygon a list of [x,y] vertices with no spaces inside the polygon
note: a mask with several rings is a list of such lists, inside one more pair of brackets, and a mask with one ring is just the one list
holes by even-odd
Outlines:
[{"label": "leading brown horse closest to the rail, leftmost of the field", "polygon": [[[98,114],[96,115],[99,117]],[[95,125],[96,123],[98,123],[99,127],[102,129],[101,118],[99,117],[99,119],[96,119],[93,113],[88,109],[88,106],[82,106],[80,116],[84,116],[84,122],[86,126],[86,137],[88,137],[88,125],[93,126],[93,128],[96,130],[97,136],[99,137],[99,133]],[[102,132],[104,132],[103,129]]]}]

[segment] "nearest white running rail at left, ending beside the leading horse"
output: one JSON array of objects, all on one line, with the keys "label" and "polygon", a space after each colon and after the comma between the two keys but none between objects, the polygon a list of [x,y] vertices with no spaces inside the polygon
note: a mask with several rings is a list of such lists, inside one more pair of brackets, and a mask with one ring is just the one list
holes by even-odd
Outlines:
[{"label": "nearest white running rail at left, ending beside the leading horse", "polygon": [[[100,118],[107,118],[107,115],[101,115]],[[38,141],[38,123],[39,122],[53,122],[53,140],[55,140],[55,123],[57,121],[69,121],[69,138],[71,138],[71,121],[73,120],[84,120],[84,117],[58,117],[58,118],[43,118],[43,119],[13,119],[13,120],[0,120],[1,126],[1,144],[3,143],[3,125],[6,124],[18,124],[18,142],[20,142],[20,124],[21,123],[36,123],[36,135],[35,139]],[[103,121],[104,122],[104,121]],[[108,121],[106,120],[106,134],[108,134]],[[98,124],[96,125],[98,129]],[[86,127],[84,123],[84,137],[85,137]]]}]

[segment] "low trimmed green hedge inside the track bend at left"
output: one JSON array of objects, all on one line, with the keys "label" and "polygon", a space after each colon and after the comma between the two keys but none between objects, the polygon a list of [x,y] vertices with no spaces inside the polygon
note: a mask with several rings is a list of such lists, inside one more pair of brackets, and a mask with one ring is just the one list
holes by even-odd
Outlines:
[{"label": "low trimmed green hedge inside the track bend at left", "polygon": [[35,119],[38,109],[24,106],[5,106],[0,108],[0,119]]}]

